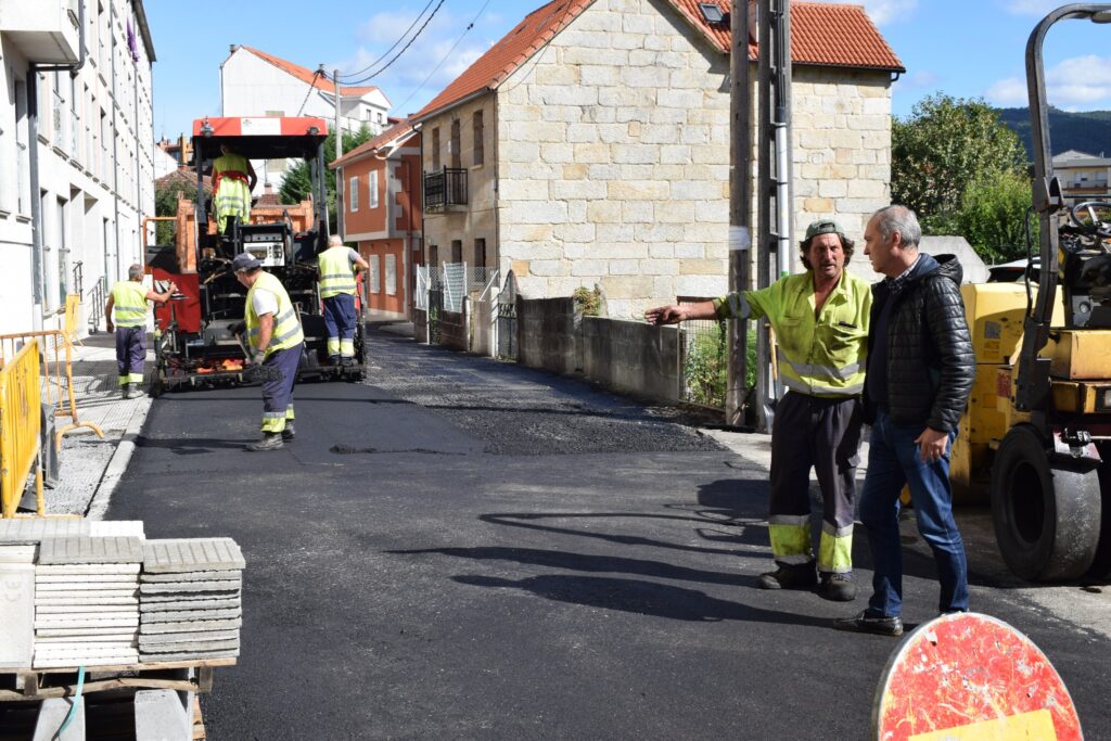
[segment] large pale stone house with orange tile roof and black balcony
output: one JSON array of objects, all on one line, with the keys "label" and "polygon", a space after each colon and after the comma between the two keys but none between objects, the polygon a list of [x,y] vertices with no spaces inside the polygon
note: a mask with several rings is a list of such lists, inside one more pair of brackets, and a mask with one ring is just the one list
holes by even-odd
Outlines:
[{"label": "large pale stone house with orange tile roof and black balcony", "polygon": [[[556,0],[412,116],[428,254],[484,252],[529,298],[597,283],[617,317],[723,293],[730,32],[699,4]],[[795,223],[859,236],[888,202],[903,68],[863,8],[791,8]]]}]

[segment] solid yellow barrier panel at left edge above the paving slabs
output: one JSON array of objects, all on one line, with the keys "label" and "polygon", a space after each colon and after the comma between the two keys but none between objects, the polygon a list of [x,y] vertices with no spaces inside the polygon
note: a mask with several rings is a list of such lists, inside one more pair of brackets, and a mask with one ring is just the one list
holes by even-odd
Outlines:
[{"label": "solid yellow barrier panel at left edge above the paving slabs", "polygon": [[3,517],[16,517],[27,477],[34,467],[34,493],[39,514],[42,501],[42,455],[39,434],[40,409],[39,343],[32,339],[0,369],[0,503]]}]

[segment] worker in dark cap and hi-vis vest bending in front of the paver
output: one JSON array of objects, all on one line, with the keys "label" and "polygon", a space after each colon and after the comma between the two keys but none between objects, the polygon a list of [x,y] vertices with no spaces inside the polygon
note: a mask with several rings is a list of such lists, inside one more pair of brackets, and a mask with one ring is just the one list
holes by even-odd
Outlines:
[{"label": "worker in dark cap and hi-vis vest bending in front of the paver", "polygon": [[304,332],[297,309],[281,281],[262,270],[253,254],[242,252],[231,261],[236,278],[247,289],[243,319],[247,326],[248,360],[277,369],[262,382],[262,439],[248,450],[278,450],[292,440],[293,382],[304,348]]}]

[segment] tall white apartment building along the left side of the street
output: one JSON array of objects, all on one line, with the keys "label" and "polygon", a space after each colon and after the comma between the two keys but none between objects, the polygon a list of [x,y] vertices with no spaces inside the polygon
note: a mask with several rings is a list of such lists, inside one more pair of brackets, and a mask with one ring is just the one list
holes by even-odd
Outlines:
[{"label": "tall white apartment building along the left side of the street", "polygon": [[0,0],[0,333],[58,326],[142,262],[154,212],[142,0]]}]

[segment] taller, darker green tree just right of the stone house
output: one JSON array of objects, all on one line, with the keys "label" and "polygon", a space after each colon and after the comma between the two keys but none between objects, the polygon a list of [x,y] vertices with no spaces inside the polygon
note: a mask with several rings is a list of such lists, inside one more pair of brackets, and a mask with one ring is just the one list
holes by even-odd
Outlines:
[{"label": "taller, darker green tree just right of the stone house", "polygon": [[891,196],[914,209],[925,233],[953,233],[969,183],[1023,173],[1018,136],[983,99],[937,93],[891,122]]}]

